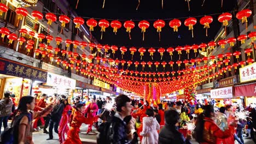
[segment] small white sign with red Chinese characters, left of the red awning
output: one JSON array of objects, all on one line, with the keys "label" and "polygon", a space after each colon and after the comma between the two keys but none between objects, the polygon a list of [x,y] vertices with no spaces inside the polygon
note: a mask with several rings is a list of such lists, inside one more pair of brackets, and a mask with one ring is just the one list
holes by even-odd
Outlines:
[{"label": "small white sign with red Chinese characters, left of the red awning", "polygon": [[211,90],[211,99],[233,98],[233,88],[224,87]]}]

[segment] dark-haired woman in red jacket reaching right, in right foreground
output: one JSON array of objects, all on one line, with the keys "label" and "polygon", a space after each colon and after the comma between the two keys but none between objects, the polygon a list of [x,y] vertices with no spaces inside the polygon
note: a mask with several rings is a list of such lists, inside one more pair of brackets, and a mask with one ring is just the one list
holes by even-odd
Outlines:
[{"label": "dark-haired woman in red jacket reaching right, in right foreground", "polygon": [[[216,117],[214,107],[206,105],[203,113],[199,115],[196,121],[195,138],[199,143],[217,143],[217,139],[226,139],[234,134],[235,124],[231,124],[228,129],[222,131],[214,122]],[[233,141],[234,142],[234,141]]]}]

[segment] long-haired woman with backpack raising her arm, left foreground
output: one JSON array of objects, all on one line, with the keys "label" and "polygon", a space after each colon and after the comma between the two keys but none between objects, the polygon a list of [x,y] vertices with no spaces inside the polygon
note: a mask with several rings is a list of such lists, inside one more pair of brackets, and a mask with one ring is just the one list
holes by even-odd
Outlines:
[{"label": "long-haired woman with backpack raising her arm, left foreground", "polygon": [[53,110],[53,105],[47,106],[43,111],[32,112],[35,107],[35,98],[31,96],[22,97],[19,101],[18,112],[13,120],[13,143],[33,143],[32,120],[37,117],[45,117]]}]

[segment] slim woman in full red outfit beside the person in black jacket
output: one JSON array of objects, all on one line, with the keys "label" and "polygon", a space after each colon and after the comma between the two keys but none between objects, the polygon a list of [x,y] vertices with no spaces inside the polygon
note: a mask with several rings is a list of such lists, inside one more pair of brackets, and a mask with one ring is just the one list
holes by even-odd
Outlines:
[{"label": "slim woman in full red outfit beside the person in black jacket", "polygon": [[72,109],[71,105],[68,104],[68,99],[62,99],[62,103],[64,104],[64,109],[62,112],[60,125],[59,125],[59,140],[60,143],[63,143],[65,141],[65,134],[67,134],[69,128],[68,128],[68,111]]}]

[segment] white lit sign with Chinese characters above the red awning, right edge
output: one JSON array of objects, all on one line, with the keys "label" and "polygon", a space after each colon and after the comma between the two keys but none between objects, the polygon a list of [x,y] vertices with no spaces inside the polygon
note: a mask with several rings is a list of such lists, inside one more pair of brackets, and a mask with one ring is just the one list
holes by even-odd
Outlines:
[{"label": "white lit sign with Chinese characters above the red awning, right edge", "polygon": [[256,62],[240,68],[240,82],[256,80]]}]

